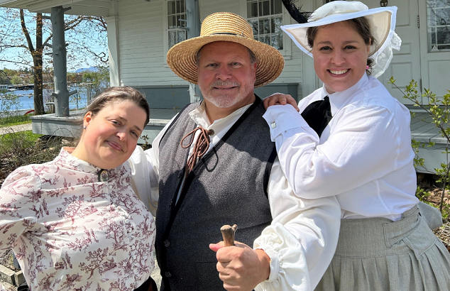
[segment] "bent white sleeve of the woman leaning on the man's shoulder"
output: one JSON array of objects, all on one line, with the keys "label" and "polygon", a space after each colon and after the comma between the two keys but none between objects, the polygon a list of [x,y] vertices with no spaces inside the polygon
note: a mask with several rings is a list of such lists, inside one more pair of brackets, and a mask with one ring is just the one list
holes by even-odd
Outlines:
[{"label": "bent white sleeve of the woman leaning on the man's shoulder", "polygon": [[347,106],[331,120],[334,126],[323,144],[292,106],[270,106],[263,117],[299,197],[341,194],[398,168],[399,130],[393,114],[381,106]]}]

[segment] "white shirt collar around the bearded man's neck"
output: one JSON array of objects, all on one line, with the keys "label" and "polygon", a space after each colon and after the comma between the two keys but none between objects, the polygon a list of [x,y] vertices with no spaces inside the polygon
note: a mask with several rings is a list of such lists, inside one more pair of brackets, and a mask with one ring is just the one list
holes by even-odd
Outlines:
[{"label": "white shirt collar around the bearded man's neck", "polygon": [[[209,118],[207,116],[206,106],[205,103],[202,102],[200,106],[198,106],[196,109],[190,111],[189,116],[190,118],[199,126],[202,126],[203,128],[207,130],[213,130],[214,136],[216,136],[219,133],[222,133],[220,136],[224,136],[226,131],[236,122],[238,121],[239,117],[250,107],[251,104],[248,104],[246,106],[243,106],[236,111],[234,111],[229,116],[226,116],[222,119],[217,119],[213,123],[209,123]],[[226,131],[224,131],[226,130]]]}]

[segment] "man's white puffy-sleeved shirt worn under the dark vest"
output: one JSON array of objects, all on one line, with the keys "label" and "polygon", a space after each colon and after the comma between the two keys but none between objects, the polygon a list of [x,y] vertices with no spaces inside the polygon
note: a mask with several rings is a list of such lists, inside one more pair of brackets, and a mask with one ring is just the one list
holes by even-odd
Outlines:
[{"label": "man's white puffy-sleeved shirt worn under the dark vest", "polygon": [[[249,106],[209,123],[202,103],[190,112],[190,117],[199,126],[214,130],[209,145],[211,150]],[[170,123],[155,138],[153,148],[143,151],[137,147],[129,160],[136,192],[153,214],[158,206],[159,143]],[[199,131],[194,143],[198,134]],[[319,199],[297,197],[280,168],[278,158],[270,172],[268,198],[273,222],[256,238],[253,248],[263,249],[270,257],[270,277],[256,290],[313,290],[336,249],[341,217],[339,204],[333,196]]]}]

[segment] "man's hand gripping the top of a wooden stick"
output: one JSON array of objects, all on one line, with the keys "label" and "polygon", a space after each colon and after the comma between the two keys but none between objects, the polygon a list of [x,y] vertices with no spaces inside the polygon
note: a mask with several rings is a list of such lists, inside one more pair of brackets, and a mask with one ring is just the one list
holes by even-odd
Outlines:
[{"label": "man's hand gripping the top of a wooden stick", "polygon": [[270,275],[270,258],[263,250],[253,250],[244,243],[224,247],[224,242],[211,243],[216,252],[219,278],[228,291],[251,291]]}]

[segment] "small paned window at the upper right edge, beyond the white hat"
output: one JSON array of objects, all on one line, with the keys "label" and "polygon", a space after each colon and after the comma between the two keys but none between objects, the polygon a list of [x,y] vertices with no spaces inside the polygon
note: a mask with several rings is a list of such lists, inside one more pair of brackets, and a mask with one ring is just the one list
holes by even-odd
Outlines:
[{"label": "small paned window at the upper right edge, beyond the white hat", "polygon": [[427,0],[428,51],[450,50],[450,1]]}]

